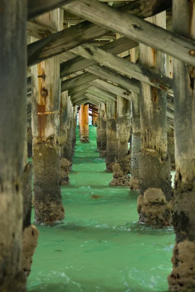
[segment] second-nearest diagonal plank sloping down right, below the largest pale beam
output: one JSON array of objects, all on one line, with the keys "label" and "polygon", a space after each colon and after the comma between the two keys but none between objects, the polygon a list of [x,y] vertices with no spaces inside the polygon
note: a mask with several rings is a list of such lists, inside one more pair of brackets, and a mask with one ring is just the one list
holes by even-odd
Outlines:
[{"label": "second-nearest diagonal plank sloping down right, below the largest pale beam", "polygon": [[119,56],[115,56],[89,44],[79,47],[77,54],[90,60],[92,59],[95,62],[100,63],[101,65],[104,65],[110,69],[114,69],[119,73],[134,77],[135,79],[145,82],[158,89],[163,89],[173,93],[172,78],[169,78],[166,75],[163,76],[162,74],[157,73],[155,70],[124,60]]}]

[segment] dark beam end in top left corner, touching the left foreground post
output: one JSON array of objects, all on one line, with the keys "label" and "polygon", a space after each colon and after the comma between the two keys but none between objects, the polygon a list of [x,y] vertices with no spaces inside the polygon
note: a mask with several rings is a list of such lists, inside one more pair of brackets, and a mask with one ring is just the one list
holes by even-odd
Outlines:
[{"label": "dark beam end in top left corner, touching the left foreground post", "polygon": [[63,5],[67,0],[28,0],[28,19]]}]

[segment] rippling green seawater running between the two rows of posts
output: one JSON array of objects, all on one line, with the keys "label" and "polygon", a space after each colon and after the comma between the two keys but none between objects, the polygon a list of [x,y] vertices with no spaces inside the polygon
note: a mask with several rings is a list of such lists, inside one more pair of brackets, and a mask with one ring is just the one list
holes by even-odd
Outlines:
[{"label": "rippling green seawater running between the two rows of posts", "polygon": [[77,130],[71,185],[61,188],[66,218],[37,226],[28,292],[167,291],[173,228],[137,224],[139,193],[110,187],[111,180],[96,151],[96,128],[90,126],[87,144]]}]

